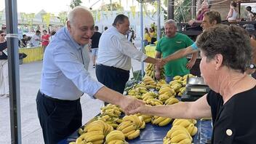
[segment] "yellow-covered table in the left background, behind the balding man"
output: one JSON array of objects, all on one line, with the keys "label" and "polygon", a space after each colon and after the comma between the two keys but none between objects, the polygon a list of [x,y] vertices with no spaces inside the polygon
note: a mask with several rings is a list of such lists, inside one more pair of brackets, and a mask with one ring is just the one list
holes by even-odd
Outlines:
[{"label": "yellow-covered table in the left background, behind the balding man", "polygon": [[42,47],[20,48],[19,52],[25,53],[25,55],[27,55],[27,57],[23,59],[23,63],[31,63],[34,61],[42,60],[44,55]]}]

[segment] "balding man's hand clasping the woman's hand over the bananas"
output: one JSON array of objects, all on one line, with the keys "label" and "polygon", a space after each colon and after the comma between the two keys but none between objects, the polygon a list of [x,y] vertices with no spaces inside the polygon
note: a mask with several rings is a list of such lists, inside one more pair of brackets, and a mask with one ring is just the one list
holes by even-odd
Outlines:
[{"label": "balding man's hand clasping the woman's hand over the bananas", "polygon": [[145,105],[142,100],[137,100],[129,96],[122,98],[120,103],[120,107],[124,110],[124,113],[127,114],[129,114],[129,111],[132,111],[141,105]]}]

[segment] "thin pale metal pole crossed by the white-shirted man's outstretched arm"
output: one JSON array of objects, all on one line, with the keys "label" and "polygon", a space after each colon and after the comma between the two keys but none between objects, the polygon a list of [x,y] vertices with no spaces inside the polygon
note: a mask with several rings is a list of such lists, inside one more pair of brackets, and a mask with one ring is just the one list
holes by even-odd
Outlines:
[{"label": "thin pale metal pole crossed by the white-shirted man's outstretched arm", "polygon": [[[143,44],[143,1],[140,2],[140,37],[141,37],[141,46],[140,50],[144,52],[144,44]],[[141,79],[144,76],[144,62],[141,62]]]}]

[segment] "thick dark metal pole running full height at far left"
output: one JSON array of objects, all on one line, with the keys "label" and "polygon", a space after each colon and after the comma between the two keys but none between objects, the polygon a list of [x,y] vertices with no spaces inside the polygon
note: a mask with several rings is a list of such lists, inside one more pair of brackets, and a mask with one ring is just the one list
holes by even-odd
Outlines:
[{"label": "thick dark metal pole running full height at far left", "polygon": [[11,143],[21,143],[20,76],[17,39],[17,0],[5,0],[7,23],[7,49],[9,71],[9,109],[11,118]]}]

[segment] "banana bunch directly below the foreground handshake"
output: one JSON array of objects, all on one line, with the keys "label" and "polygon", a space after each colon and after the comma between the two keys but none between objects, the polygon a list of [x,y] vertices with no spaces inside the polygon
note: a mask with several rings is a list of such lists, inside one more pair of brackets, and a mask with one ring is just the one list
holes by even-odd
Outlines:
[{"label": "banana bunch directly below the foreground handshake", "polygon": [[124,116],[123,122],[116,129],[123,132],[128,140],[133,140],[140,135],[140,129],[145,128],[145,121],[137,115]]}]

